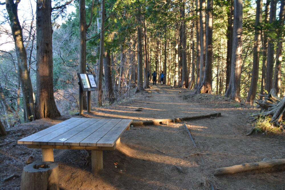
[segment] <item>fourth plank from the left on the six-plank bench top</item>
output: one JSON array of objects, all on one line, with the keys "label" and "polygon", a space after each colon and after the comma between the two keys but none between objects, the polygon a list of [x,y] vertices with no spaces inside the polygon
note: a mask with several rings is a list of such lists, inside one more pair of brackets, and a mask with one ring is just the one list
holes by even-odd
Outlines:
[{"label": "fourth plank from the left on the six-plank bench top", "polygon": [[75,136],[69,138],[68,140],[64,141],[64,145],[71,145],[71,146],[80,146],[80,142],[84,140],[87,136],[92,134],[94,131],[98,130],[102,127],[105,123],[109,122],[111,119],[101,119],[94,123],[93,125],[87,127],[86,129],[82,130]]}]

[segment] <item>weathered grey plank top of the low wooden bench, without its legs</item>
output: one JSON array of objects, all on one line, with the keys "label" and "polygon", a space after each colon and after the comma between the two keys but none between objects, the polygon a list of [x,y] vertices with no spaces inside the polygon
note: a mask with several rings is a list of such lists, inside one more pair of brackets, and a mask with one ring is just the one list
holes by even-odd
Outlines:
[{"label": "weathered grey plank top of the low wooden bench, without its legs", "polygon": [[113,147],[132,121],[70,118],[18,140],[18,144]]}]

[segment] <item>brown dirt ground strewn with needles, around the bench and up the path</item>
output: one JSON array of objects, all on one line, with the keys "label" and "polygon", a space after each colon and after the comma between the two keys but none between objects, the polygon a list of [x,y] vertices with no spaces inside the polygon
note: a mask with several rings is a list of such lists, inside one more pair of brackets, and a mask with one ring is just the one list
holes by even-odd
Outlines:
[{"label": "brown dirt ground strewn with needles, around the bench and up the path", "polygon": [[[162,89],[163,88],[163,89]],[[285,158],[285,136],[254,133],[248,116],[258,110],[231,102],[223,96],[201,94],[183,100],[188,89],[153,85],[151,92],[109,107],[94,108],[86,117],[133,120],[167,119],[221,112],[221,117],[187,121],[194,147],[184,123],[134,126],[123,133],[121,145],[103,151],[103,172],[91,173],[91,153],[86,150],[54,150],[59,163],[60,189],[285,189],[285,172],[239,173],[215,177],[213,170],[264,158]],[[172,98],[173,99],[172,99]],[[143,108],[142,111],[134,111]],[[41,150],[17,144],[17,140],[79,116],[62,116],[21,124],[0,138],[0,189],[19,189],[25,162],[41,160]],[[176,166],[181,167],[180,173]],[[3,179],[17,175],[8,181]]]}]

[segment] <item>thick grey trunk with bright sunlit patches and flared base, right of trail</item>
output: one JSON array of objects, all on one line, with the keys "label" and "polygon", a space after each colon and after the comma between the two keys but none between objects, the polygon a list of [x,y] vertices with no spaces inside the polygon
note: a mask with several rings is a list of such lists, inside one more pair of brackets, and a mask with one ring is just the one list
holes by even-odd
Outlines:
[{"label": "thick grey trunk with bright sunlit patches and flared base, right of trail", "polygon": [[225,96],[239,101],[240,99],[240,80],[241,80],[241,54],[242,54],[242,27],[243,27],[243,2],[234,1],[233,19],[233,49],[231,61],[231,78]]}]

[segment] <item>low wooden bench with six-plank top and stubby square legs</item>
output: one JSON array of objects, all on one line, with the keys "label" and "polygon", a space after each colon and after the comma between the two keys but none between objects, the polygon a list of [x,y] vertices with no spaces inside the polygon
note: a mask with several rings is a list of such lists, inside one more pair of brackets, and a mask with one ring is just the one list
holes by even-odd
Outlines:
[{"label": "low wooden bench with six-plank top and stubby square legs", "polygon": [[131,119],[71,118],[18,140],[28,148],[41,148],[42,161],[54,161],[53,149],[91,150],[92,172],[103,169],[103,150],[115,150]]}]

